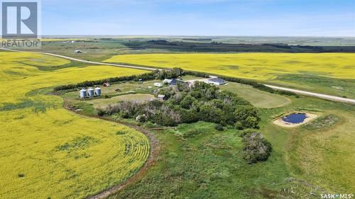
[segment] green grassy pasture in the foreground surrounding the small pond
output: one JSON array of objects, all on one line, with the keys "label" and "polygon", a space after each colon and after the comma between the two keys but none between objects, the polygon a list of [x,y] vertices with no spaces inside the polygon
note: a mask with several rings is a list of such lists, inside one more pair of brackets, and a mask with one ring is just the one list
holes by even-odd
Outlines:
[{"label": "green grassy pasture in the foreground surrounding the small pond", "polygon": [[[246,164],[237,130],[180,125],[154,132],[162,144],[155,165],[110,198],[320,198],[322,191],[354,191],[349,176],[355,175],[355,107],[304,96],[290,100],[284,107],[259,109],[260,131],[273,144],[268,161]],[[334,114],[339,120],[331,126],[320,120],[311,127],[273,125],[275,117],[293,110],[315,111],[321,118]]]}]

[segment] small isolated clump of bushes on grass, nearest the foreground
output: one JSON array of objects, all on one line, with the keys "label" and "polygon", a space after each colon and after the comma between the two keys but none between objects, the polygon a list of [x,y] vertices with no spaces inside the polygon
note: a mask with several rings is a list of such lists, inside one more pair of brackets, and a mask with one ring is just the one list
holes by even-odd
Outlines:
[{"label": "small isolated clump of bushes on grass, nearest the foreground", "polygon": [[271,143],[261,136],[260,132],[253,130],[246,130],[241,132],[243,143],[243,158],[248,161],[249,164],[256,163],[258,161],[266,161],[270,156],[273,147]]}]

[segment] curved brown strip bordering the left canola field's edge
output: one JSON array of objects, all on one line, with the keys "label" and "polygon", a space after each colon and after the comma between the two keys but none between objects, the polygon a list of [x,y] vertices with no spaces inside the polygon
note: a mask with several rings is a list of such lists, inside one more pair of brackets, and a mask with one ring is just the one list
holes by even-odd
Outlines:
[{"label": "curved brown strip bordering the left canola field's edge", "polygon": [[137,181],[138,179],[140,179],[142,176],[144,176],[144,174],[146,174],[146,172],[148,171],[148,169],[151,168],[151,166],[153,166],[155,164],[155,161],[158,157],[158,154],[160,152],[160,144],[159,144],[159,140],[153,135],[152,132],[149,132],[149,130],[144,129],[143,127],[139,127],[136,125],[131,125],[129,123],[122,123],[122,122],[118,122],[116,120],[113,120],[111,118],[105,118],[105,117],[100,117],[100,116],[95,116],[95,115],[82,115],[80,113],[77,113],[75,110],[73,110],[72,108],[70,108],[67,104],[67,102],[64,102],[64,108],[66,110],[71,111],[72,113],[75,113],[77,115],[80,115],[81,117],[88,117],[88,118],[95,118],[95,119],[101,119],[101,120],[107,120],[109,122],[113,122],[113,123],[118,123],[120,125],[125,125],[127,127],[131,127],[141,133],[143,133],[144,135],[146,135],[146,137],[148,137],[149,140],[149,144],[150,144],[150,152],[149,152],[149,156],[148,159],[146,161],[146,163],[141,167],[141,169],[139,169],[139,171],[136,174],[133,174],[133,176],[131,176],[129,179],[127,179],[126,181],[124,181],[123,183],[120,183],[116,186],[113,186],[111,188],[108,188],[105,191],[102,191],[100,193],[94,194],[94,195],[89,195],[87,196],[86,199],[102,199],[102,198],[107,198],[109,195],[112,195],[114,193],[117,193],[121,190],[123,190],[126,186],[128,186],[129,184]]}]

